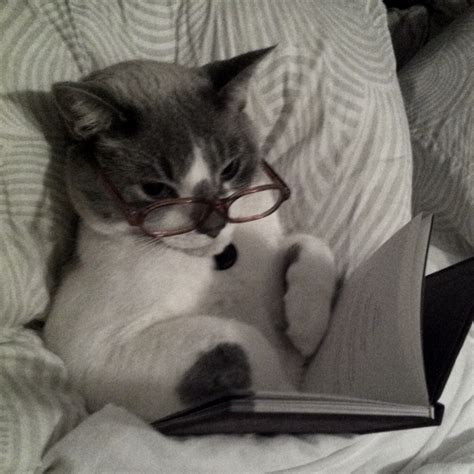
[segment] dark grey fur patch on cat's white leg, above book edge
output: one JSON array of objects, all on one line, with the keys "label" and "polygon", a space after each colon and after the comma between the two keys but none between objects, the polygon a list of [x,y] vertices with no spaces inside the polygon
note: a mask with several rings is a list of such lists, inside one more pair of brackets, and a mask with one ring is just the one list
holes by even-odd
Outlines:
[{"label": "dark grey fur patch on cat's white leg, above book edge", "polygon": [[185,404],[195,404],[229,390],[251,386],[251,368],[242,347],[222,343],[199,356],[187,370],[177,391]]}]

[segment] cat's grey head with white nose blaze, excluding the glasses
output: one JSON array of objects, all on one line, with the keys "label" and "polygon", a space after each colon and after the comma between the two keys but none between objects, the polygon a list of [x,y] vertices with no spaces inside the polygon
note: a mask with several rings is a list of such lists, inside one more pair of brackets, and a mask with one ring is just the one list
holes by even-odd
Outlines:
[{"label": "cat's grey head with white nose blaze, excluding the glasses", "polygon": [[[247,84],[271,49],[197,68],[128,61],[55,84],[73,143],[68,191],[86,225],[147,238],[127,223],[101,172],[137,209],[162,198],[220,198],[248,187],[260,157],[244,112]],[[212,213],[195,231],[158,244],[207,254],[228,243],[231,228]]]}]

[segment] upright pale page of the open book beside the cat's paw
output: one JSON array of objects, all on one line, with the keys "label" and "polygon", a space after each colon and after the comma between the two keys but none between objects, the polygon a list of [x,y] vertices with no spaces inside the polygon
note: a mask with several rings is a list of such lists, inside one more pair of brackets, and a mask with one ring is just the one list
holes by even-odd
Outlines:
[{"label": "upright pale page of the open book beside the cat's paw", "polygon": [[304,390],[428,405],[421,292],[431,216],[419,215],[344,283]]}]

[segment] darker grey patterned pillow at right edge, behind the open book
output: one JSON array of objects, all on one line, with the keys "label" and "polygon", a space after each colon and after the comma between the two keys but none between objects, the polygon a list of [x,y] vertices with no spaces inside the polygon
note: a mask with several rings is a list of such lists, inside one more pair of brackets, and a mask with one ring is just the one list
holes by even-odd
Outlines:
[{"label": "darker grey patterned pillow at right edge, behind the open book", "polygon": [[474,7],[401,71],[413,146],[413,213],[435,215],[441,249],[474,253]]}]

